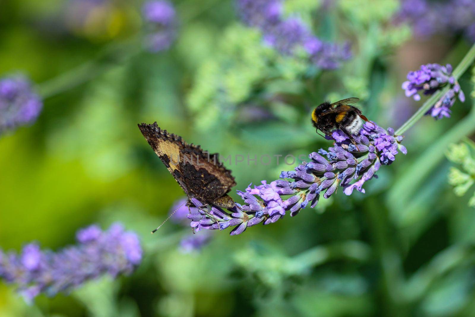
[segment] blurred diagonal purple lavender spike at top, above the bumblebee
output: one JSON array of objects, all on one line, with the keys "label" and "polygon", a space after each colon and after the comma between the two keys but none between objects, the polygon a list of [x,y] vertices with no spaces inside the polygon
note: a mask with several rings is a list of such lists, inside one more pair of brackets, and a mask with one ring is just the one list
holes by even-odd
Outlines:
[{"label": "blurred diagonal purple lavender spike at top, above the bumblebee", "polygon": [[304,48],[310,60],[320,68],[335,69],[351,58],[350,46],[325,43],[315,37],[298,18],[283,16],[282,0],[237,0],[241,20],[260,29],[263,41],[284,55]]}]

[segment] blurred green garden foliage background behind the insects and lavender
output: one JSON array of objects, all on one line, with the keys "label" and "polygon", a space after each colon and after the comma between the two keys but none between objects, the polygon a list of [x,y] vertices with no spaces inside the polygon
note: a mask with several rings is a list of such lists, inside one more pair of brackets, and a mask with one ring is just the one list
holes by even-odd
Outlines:
[{"label": "blurred green garden foliage background behind the insects and lavender", "polygon": [[[405,1],[406,11],[416,2]],[[470,1],[425,3],[429,12]],[[234,1],[173,4],[174,42],[151,52],[142,1],[0,1],[0,75],[27,74],[44,97],[34,124],[0,136],[0,247],[57,250],[77,229],[115,221],[144,247],[131,276],[33,305],[0,283],[0,316],[474,316],[475,210],[470,195],[452,191],[444,155],[473,136],[475,122],[460,126],[473,103],[470,71],[459,80],[466,102],[451,118],[419,120],[405,134],[408,154],[381,168],[365,194],[339,191],[239,236],[209,232],[200,250],[180,246],[187,221],[150,234],[183,192],[137,128],[157,121],[224,156],[306,155],[330,145],[310,124],[312,107],[358,96],[367,117],[398,128],[422,104],[401,89],[407,73],[455,67],[471,33],[421,32],[396,0],[285,1],[285,14],[319,38],[351,44],[351,58],[322,70],[263,42]],[[442,24],[435,14],[423,30]],[[228,167],[238,190],[293,168]]]}]

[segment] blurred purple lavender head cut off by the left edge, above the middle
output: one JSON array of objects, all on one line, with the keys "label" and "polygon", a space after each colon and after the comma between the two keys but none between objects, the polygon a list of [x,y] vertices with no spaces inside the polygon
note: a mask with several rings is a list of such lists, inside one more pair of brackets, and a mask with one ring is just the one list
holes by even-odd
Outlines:
[{"label": "blurred purple lavender head cut off by the left edge, above the middle", "polygon": [[43,103],[26,77],[0,79],[0,133],[20,125],[32,124]]}]

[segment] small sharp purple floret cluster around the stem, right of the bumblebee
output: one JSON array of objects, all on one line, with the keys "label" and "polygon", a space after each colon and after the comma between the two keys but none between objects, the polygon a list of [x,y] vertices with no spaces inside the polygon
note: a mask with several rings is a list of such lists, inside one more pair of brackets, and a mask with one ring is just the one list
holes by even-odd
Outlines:
[{"label": "small sharp purple floret cluster around the stem, right of the bumblebee", "polygon": [[419,92],[424,95],[432,95],[436,91],[449,85],[450,89],[428,110],[426,115],[431,115],[436,119],[450,117],[450,107],[455,103],[456,98],[465,102],[465,95],[458,81],[452,76],[452,66],[447,64],[422,65],[420,69],[411,71],[408,80],[402,83],[402,89],[406,91],[406,96],[412,96],[414,100],[420,100]]}]

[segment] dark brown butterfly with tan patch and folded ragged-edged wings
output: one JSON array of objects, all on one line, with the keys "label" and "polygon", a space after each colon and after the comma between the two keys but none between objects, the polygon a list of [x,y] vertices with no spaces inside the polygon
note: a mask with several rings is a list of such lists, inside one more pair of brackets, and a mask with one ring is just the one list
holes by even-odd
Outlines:
[{"label": "dark brown butterfly with tan patch and folded ragged-edged wings", "polygon": [[153,151],[188,196],[188,206],[195,198],[204,205],[232,208],[228,195],[236,186],[231,171],[219,163],[219,154],[209,154],[199,145],[188,144],[181,136],[168,133],[157,125],[139,124],[139,129]]}]

